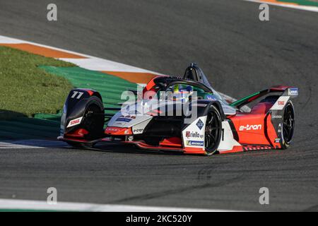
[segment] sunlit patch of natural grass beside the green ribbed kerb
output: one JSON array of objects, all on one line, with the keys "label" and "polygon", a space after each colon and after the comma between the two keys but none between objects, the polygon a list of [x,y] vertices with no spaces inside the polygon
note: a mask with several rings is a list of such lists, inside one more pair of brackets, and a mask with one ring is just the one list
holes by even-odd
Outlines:
[{"label": "sunlit patch of natural grass beside the green ribbed kerb", "polygon": [[74,66],[10,47],[0,47],[0,119],[56,113],[72,88],[66,78],[39,65]]}]

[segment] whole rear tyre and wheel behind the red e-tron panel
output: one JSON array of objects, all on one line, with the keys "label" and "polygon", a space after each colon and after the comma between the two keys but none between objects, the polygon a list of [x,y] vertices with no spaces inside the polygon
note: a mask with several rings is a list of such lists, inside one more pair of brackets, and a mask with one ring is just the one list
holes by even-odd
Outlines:
[{"label": "whole rear tyre and wheel behind the red e-tron panel", "polygon": [[289,100],[284,108],[283,126],[281,129],[281,149],[287,149],[293,139],[295,129],[295,109],[293,102]]}]

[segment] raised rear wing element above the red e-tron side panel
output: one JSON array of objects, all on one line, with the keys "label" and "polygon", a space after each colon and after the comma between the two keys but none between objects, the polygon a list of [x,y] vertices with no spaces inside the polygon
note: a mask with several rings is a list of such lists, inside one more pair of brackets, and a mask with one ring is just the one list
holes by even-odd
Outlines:
[{"label": "raised rear wing element above the red e-tron side panel", "polygon": [[298,88],[295,88],[292,86],[283,86],[283,85],[273,86],[269,89],[261,90],[257,93],[252,93],[251,95],[248,95],[247,97],[244,97],[240,100],[232,102],[230,106],[237,107],[238,109],[240,109],[240,107],[247,105],[254,100],[257,100],[260,97],[264,97],[265,95],[269,93],[282,93],[281,96],[297,97]]}]

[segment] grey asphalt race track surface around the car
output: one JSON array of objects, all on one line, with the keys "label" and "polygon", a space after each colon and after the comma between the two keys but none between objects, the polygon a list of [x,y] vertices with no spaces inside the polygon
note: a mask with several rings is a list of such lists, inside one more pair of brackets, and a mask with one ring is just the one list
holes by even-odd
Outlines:
[{"label": "grey asphalt race track surface around the car", "polygon": [[[262,22],[250,1],[55,1],[58,20],[49,22],[49,3],[1,1],[0,35],[175,76],[196,61],[216,90],[237,99],[297,86],[295,138],[288,150],[211,157],[112,143],[1,148],[1,201],[43,202],[55,187],[66,203],[318,210],[318,13],[270,5]],[[269,205],[259,203],[261,187]]]}]

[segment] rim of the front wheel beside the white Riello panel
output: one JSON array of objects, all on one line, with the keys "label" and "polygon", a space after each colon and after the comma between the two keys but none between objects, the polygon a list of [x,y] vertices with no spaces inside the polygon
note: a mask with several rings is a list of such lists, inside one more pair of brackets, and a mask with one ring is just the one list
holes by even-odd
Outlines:
[{"label": "rim of the front wheel beside the white Riello panel", "polygon": [[220,130],[221,125],[218,114],[216,114],[216,112],[209,112],[205,131],[205,144],[208,153],[214,153],[216,151],[218,142],[220,141]]}]

